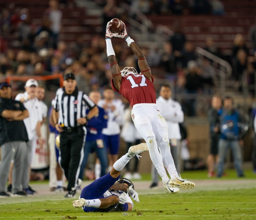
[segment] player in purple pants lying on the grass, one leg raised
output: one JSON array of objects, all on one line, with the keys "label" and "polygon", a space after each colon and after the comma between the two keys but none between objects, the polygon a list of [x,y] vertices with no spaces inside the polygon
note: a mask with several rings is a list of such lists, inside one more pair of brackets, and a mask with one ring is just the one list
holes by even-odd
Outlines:
[{"label": "player in purple pants lying on the grass, one leg raised", "polygon": [[133,202],[130,196],[136,202],[139,202],[139,196],[130,180],[119,179],[120,172],[131,158],[147,150],[145,143],[130,147],[108,174],[83,188],[79,199],[73,201],[73,206],[85,212],[131,211]]}]

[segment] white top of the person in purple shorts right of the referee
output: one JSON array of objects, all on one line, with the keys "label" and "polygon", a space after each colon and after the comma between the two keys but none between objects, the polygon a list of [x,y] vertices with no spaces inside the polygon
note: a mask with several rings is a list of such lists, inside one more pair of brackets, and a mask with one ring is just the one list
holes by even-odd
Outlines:
[{"label": "white top of the person in purple shorts right of the referee", "polygon": [[[103,105],[105,104],[105,100],[102,99],[98,102],[97,105],[103,108]],[[124,104],[120,99],[114,99],[111,103],[108,103],[108,106],[108,109],[105,109],[105,112],[108,114],[108,124],[106,128],[103,128],[102,134],[120,134],[120,126],[124,124]],[[112,111],[110,106],[115,106],[115,110]]]}]

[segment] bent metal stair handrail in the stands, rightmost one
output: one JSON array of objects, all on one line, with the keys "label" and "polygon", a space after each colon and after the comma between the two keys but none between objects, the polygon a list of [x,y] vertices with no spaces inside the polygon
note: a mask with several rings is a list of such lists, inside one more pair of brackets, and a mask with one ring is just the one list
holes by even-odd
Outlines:
[{"label": "bent metal stair handrail in the stands, rightmost one", "polygon": [[220,91],[224,93],[226,89],[226,80],[232,74],[231,65],[227,61],[215,56],[214,54],[206,51],[201,47],[196,47],[196,53],[198,55],[199,61],[202,61],[204,57],[207,57],[209,60],[212,61],[211,62],[212,66],[215,68],[215,70],[217,70],[216,73],[220,78],[219,80]]}]

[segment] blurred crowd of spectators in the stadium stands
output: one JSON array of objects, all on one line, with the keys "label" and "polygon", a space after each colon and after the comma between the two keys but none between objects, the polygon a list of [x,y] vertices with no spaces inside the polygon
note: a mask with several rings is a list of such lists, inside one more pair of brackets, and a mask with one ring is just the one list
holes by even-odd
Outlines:
[{"label": "blurred crowd of spectators in the stadium stands", "polygon": [[[218,8],[216,5],[218,5],[217,2],[219,1],[137,0],[124,2],[133,7],[136,6],[144,14],[163,14],[164,12],[161,9],[159,9],[160,12],[152,11],[153,9],[158,10],[157,8],[159,7],[166,8],[168,9],[167,13],[172,11],[174,14],[184,14],[186,7],[189,7],[189,13],[200,14],[202,12],[213,13],[212,9]],[[125,22],[131,16],[123,13],[119,7],[120,2],[108,0],[97,1],[97,3],[103,8],[104,28],[106,21],[113,17],[120,17]],[[165,7],[164,4],[168,4],[168,7]],[[187,6],[185,7],[184,5]],[[214,5],[216,7],[213,7]],[[207,8],[209,10],[206,10]],[[219,6],[219,8],[221,7]],[[178,12],[179,9],[182,13]],[[76,35],[71,44],[58,40],[59,33],[63,30],[63,27],[62,11],[57,0],[49,1],[49,8],[44,12],[41,21],[41,24],[36,26],[27,8],[13,7],[1,10],[1,81],[13,75],[42,76],[73,72],[78,79],[79,89],[86,93],[91,90],[102,91],[104,86],[110,84],[111,75],[105,55],[104,35],[92,34],[90,42],[84,42],[83,36],[79,34]],[[253,30],[251,31],[251,39],[255,41],[255,31]],[[174,93],[192,94],[191,100],[184,101],[182,106],[186,115],[194,116],[196,115],[196,110],[193,107],[194,104],[191,104],[194,102],[194,95],[202,93],[213,94],[216,71],[207,59],[204,59],[201,63],[197,62],[195,45],[187,40],[181,27],[176,25],[173,31],[174,34],[163,43],[162,48],[145,47],[143,52],[151,67],[163,71],[163,74],[159,74],[154,70],[154,77],[168,79],[174,83]],[[115,47],[114,49],[118,53],[118,57],[120,57],[119,63],[121,67],[136,63],[133,54],[126,49],[125,44],[120,41],[120,44],[116,44]],[[227,57],[223,56],[221,49],[216,47],[211,36],[206,38],[204,49],[220,58],[227,59]],[[232,79],[237,82],[237,88],[242,91],[242,85],[249,85],[250,87],[248,88],[251,95],[255,93],[253,86],[256,67],[254,49],[248,47],[244,36],[238,33],[234,39],[232,54],[228,58],[233,67]],[[23,86],[23,82],[15,82],[13,88],[21,90]],[[47,90],[56,91],[58,86],[59,82],[57,80],[46,82]],[[158,88],[156,87],[156,89]],[[190,111],[191,109],[193,110]]]}]

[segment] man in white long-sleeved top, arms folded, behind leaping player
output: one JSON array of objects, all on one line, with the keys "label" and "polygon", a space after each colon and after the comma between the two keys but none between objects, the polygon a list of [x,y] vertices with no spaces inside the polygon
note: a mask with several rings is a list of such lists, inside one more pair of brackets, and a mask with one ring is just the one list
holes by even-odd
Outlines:
[{"label": "man in white long-sleeved top, arms folded, behind leaping player", "polygon": [[[171,88],[168,84],[162,85],[160,89],[160,96],[156,99],[156,105],[160,110],[162,116],[165,118],[168,126],[168,138],[170,140],[171,154],[174,160],[177,172],[180,173],[180,127],[179,123],[184,121],[184,113],[180,103],[174,101]],[[150,188],[157,187],[158,185],[158,172],[152,164],[151,170],[152,184]]]}]

